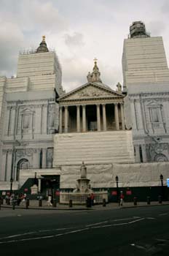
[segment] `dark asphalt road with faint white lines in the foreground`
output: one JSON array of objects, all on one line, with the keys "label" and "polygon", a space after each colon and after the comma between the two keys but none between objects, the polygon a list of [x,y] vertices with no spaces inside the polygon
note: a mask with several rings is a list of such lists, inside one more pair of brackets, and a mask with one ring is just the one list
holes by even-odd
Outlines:
[{"label": "dark asphalt road with faint white lines in the foreground", "polygon": [[15,211],[1,217],[0,255],[169,255],[169,206]]}]

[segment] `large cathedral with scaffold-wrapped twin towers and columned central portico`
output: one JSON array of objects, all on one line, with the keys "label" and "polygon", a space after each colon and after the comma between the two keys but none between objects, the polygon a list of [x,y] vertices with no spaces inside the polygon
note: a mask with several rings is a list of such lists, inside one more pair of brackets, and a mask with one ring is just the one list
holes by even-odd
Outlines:
[{"label": "large cathedral with scaffold-wrapped twin towers and columned central portico", "polygon": [[[103,70],[102,70],[103,72]],[[0,191],[76,187],[84,161],[93,189],[147,189],[169,178],[169,69],[162,37],[135,21],[124,40],[123,86],[87,82],[63,90],[45,37],[19,54],[16,77],[0,77]]]}]

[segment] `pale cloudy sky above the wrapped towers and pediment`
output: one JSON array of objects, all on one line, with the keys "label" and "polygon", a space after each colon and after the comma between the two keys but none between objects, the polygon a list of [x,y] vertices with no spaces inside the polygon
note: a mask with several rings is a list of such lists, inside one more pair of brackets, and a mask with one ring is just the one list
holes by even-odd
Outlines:
[{"label": "pale cloudy sky above the wrapped towers and pediment", "polygon": [[63,89],[86,83],[95,57],[103,83],[115,89],[134,20],[163,37],[169,59],[168,0],[0,0],[0,6],[0,75],[15,75],[19,51],[37,48],[46,35],[60,59]]}]

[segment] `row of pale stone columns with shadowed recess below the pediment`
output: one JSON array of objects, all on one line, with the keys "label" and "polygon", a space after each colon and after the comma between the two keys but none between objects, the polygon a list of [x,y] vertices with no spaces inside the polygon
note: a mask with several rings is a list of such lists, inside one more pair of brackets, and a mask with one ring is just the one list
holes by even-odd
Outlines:
[{"label": "row of pale stone columns with shadowed recess below the pediment", "polygon": [[119,102],[85,102],[60,105],[60,133],[124,130],[124,110]]}]

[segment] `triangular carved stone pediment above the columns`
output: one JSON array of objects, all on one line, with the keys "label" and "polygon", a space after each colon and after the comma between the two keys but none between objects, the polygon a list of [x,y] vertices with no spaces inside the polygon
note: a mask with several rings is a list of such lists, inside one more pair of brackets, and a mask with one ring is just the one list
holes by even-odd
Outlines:
[{"label": "triangular carved stone pediment above the columns", "polygon": [[75,100],[75,99],[100,99],[105,97],[124,97],[122,94],[109,89],[109,87],[101,86],[96,83],[86,83],[84,86],[70,91],[68,94],[63,95],[59,100]]}]

